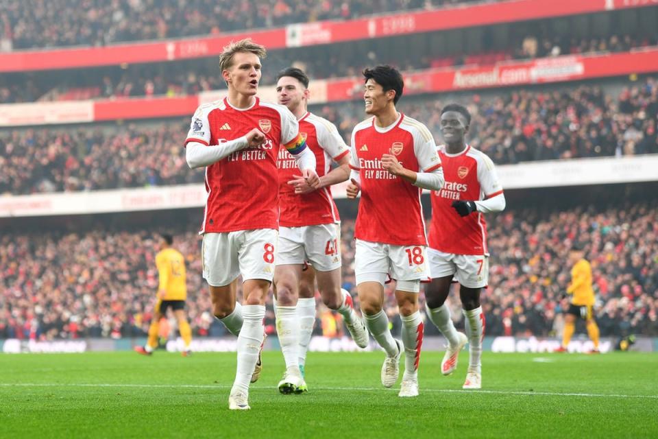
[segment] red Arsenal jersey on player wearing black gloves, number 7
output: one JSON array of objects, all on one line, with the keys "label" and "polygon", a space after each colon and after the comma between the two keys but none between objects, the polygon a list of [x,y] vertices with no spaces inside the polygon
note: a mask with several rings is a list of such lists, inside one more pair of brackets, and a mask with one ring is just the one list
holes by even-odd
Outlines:
[{"label": "red Arsenal jersey on player wearing black gloves, number 7", "polygon": [[446,147],[441,146],[439,156],[446,183],[431,195],[430,248],[454,254],[489,254],[483,213],[461,217],[452,208],[452,202],[485,200],[502,193],[493,162],[470,146],[459,154],[448,154]]}]

